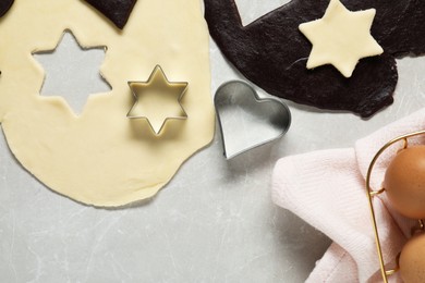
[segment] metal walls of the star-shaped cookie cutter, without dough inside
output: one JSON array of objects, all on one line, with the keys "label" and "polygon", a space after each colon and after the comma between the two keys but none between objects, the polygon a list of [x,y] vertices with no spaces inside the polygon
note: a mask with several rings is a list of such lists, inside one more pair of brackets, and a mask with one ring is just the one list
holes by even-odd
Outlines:
[{"label": "metal walls of the star-shaped cookie cutter, without dough inside", "polygon": [[[170,82],[168,81],[166,74],[162,71],[162,67],[160,65],[156,65],[154,71],[150,73],[149,78],[146,82],[138,82],[138,81],[129,81],[127,82],[130,89],[132,90],[133,97],[135,99],[135,102],[133,107],[130,109],[126,116],[129,119],[144,119],[148,123],[150,130],[155,133],[156,136],[159,136],[169,120],[186,120],[187,114],[184,111],[184,108],[181,103],[181,99],[183,95],[187,90],[189,83],[187,82]],[[136,87],[142,88],[144,90],[137,91]],[[144,111],[137,111],[137,106],[139,104],[139,97],[144,93],[148,91],[157,91],[158,94],[162,95],[165,93],[171,94],[177,96],[177,102],[179,103],[181,114],[180,115],[166,115],[162,120],[162,123],[160,127],[158,128],[155,126],[151,121],[149,120],[149,116],[146,115]]]}]

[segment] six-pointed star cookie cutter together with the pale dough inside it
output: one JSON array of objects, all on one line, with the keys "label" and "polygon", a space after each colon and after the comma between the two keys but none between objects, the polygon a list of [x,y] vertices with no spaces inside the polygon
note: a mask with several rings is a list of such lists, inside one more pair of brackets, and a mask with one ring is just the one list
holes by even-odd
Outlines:
[{"label": "six-pointed star cookie cutter together with the pale dough inside it", "polygon": [[169,82],[162,69],[157,65],[147,82],[129,82],[135,103],[127,113],[130,119],[145,119],[156,135],[162,132],[170,119],[187,118],[181,99],[187,83]]}]

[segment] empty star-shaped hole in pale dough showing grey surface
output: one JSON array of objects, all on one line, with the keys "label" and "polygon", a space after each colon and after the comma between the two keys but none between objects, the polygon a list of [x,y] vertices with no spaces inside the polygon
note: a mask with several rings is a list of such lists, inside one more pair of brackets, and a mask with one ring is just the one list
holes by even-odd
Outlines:
[{"label": "empty star-shaped hole in pale dough showing grey surface", "polygon": [[105,52],[105,46],[82,47],[72,32],[65,30],[54,49],[33,52],[45,70],[40,94],[61,96],[81,113],[89,95],[111,89],[99,72]]}]

